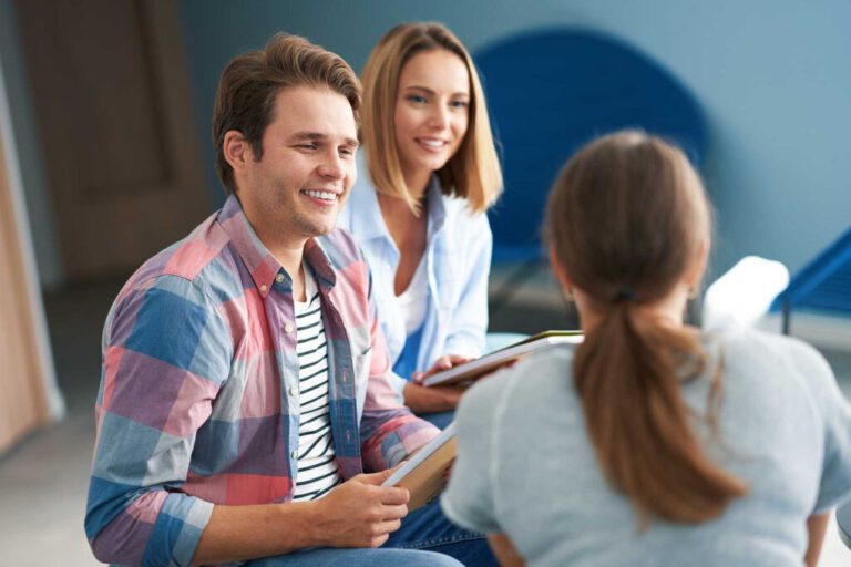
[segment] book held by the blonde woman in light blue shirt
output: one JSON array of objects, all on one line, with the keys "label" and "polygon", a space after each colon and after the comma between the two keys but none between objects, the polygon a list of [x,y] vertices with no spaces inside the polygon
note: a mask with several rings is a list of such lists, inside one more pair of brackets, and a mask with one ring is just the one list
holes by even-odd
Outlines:
[{"label": "book held by the blonde woman in light blue shirt", "polygon": [[510,362],[554,344],[578,344],[582,331],[544,331],[481,358],[443,370],[423,380],[423,385],[449,385],[475,380]]}]

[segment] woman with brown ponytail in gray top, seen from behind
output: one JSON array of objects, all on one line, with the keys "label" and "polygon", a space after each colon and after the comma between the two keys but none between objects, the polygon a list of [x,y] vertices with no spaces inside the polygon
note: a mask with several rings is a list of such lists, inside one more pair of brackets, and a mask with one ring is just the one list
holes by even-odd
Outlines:
[{"label": "woman with brown ponytail in gray top, seen from behind", "polygon": [[509,565],[816,565],[851,496],[851,410],[807,344],[684,324],[711,213],[683,153],[591,143],[545,230],[585,341],[464,396],[447,515]]}]

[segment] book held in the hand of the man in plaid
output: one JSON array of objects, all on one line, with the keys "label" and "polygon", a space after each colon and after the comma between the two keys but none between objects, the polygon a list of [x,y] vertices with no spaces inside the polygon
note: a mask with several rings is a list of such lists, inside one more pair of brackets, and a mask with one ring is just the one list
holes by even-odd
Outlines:
[{"label": "book held in the hand of the man in plaid", "polygon": [[420,447],[382,486],[402,486],[411,493],[408,509],[429,503],[443,489],[447,468],[455,458],[455,422]]}]

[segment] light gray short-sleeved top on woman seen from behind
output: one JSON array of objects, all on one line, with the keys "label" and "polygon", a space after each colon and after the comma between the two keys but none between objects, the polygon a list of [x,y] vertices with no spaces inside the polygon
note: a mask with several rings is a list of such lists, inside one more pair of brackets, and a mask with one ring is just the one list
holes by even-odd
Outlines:
[{"label": "light gray short-sleeved top on woman seen from behind", "polygon": [[[464,395],[447,515],[506,533],[531,565],[802,565],[807,517],[851,495],[849,404],[824,359],[796,339],[736,329],[705,344],[712,362],[724,352],[720,441],[706,447],[750,486],[720,518],[637,530],[628,501],[597,467],[571,347],[530,357]],[[697,415],[708,383],[684,385]],[[696,427],[709,439],[703,422]]]}]

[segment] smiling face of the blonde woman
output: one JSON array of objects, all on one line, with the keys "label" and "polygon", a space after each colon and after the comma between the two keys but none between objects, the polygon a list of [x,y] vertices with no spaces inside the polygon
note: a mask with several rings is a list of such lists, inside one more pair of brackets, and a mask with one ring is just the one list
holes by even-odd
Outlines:
[{"label": "smiling face of the blonde woman", "polygon": [[393,121],[407,179],[443,167],[470,121],[470,75],[461,58],[444,49],[412,56],[399,75]]}]

